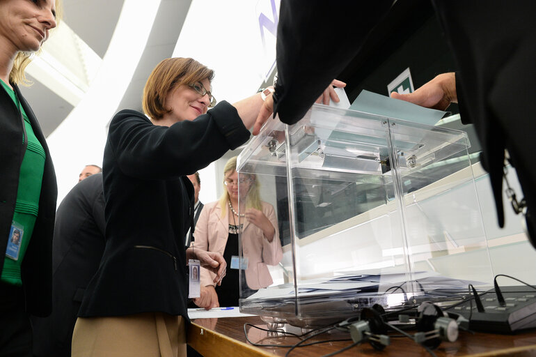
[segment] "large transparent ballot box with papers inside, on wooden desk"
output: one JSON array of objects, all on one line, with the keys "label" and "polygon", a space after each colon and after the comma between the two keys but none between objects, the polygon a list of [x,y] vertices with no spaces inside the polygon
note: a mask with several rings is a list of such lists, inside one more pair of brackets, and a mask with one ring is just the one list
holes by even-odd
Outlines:
[{"label": "large transparent ballot box with papers inside, on wooden desk", "polygon": [[324,105],[293,126],[270,120],[237,160],[240,310],[320,326],[491,287],[469,145]]}]

